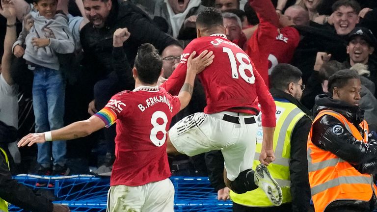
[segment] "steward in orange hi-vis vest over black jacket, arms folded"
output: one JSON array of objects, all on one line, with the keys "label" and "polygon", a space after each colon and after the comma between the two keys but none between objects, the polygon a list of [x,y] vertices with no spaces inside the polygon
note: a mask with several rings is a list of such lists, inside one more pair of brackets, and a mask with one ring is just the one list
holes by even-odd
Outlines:
[{"label": "steward in orange hi-vis vest over black jacket, arms folded", "polygon": [[316,212],[371,212],[376,208],[377,143],[368,137],[359,108],[356,71],[341,70],[328,80],[329,95],[316,98],[307,157]]}]

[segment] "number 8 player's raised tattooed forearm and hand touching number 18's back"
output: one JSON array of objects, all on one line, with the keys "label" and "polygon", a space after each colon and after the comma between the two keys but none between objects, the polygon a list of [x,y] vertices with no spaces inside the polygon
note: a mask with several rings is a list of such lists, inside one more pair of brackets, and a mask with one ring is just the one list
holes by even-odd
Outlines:
[{"label": "number 8 player's raised tattooed forearm and hand touching number 18's back", "polygon": [[211,65],[215,58],[212,51],[208,52],[205,50],[194,58],[195,54],[196,52],[194,51],[188,57],[185,83],[178,94],[178,99],[181,102],[181,108],[179,110],[185,108],[191,100],[196,75],[202,72],[207,66]]}]

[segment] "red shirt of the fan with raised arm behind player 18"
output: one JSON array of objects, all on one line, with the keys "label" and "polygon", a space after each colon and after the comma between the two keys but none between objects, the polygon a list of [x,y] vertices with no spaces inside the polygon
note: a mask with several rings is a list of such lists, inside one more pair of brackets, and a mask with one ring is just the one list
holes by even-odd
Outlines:
[{"label": "red shirt of the fan with raised arm behind player 18", "polygon": [[269,74],[278,63],[290,63],[300,41],[289,16],[278,16],[270,0],[249,0],[255,10],[259,25],[247,41],[245,52],[254,62],[266,84]]}]

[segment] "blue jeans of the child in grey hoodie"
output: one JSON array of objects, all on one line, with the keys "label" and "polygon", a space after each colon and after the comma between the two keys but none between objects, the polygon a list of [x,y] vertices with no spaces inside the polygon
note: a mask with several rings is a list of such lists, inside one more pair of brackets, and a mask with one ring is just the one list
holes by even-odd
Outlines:
[{"label": "blue jeans of the child in grey hoodie", "polygon": [[[33,107],[35,115],[35,132],[47,132],[64,127],[65,84],[61,72],[45,67],[34,69]],[[51,155],[51,146],[53,153]],[[44,167],[65,164],[66,141],[39,143],[38,163]]]}]

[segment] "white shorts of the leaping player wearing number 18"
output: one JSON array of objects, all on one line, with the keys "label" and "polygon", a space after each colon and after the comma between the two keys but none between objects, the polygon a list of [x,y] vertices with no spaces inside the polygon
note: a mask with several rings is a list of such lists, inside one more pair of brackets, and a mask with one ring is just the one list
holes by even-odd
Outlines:
[{"label": "white shorts of the leaping player wearing number 18", "polygon": [[188,156],[221,150],[227,178],[234,181],[253,166],[258,131],[255,119],[236,112],[194,113],[176,123],[169,137],[178,152]]}]

